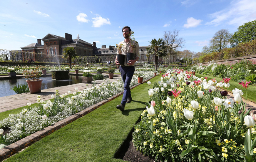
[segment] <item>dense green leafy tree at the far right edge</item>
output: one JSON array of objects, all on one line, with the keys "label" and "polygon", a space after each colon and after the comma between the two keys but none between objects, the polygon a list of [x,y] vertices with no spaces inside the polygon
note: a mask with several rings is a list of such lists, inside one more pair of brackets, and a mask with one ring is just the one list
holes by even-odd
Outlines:
[{"label": "dense green leafy tree at the far right edge", "polygon": [[238,27],[238,31],[231,37],[231,46],[237,46],[238,43],[248,42],[256,39],[256,20],[244,23]]}]

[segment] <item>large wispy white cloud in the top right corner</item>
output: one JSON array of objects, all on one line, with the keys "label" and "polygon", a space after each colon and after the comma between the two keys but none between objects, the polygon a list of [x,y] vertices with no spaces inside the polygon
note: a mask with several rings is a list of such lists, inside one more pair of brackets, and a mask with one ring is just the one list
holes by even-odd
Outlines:
[{"label": "large wispy white cloud in the top right corner", "polygon": [[256,1],[255,0],[233,0],[230,6],[209,14],[212,21],[207,22],[206,25],[218,26],[221,23],[228,23],[228,25],[243,25],[246,22],[256,19]]}]

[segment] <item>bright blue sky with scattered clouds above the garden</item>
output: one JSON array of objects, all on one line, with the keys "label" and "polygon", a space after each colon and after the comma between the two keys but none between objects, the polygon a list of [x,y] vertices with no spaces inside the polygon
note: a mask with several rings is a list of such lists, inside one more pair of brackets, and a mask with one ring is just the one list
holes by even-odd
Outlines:
[{"label": "bright blue sky with scattered clouds above the garden", "polygon": [[214,33],[256,19],[256,0],[6,0],[0,1],[0,49],[21,50],[48,33],[102,45],[119,43],[130,26],[140,46],[179,30],[184,48],[200,52]]}]

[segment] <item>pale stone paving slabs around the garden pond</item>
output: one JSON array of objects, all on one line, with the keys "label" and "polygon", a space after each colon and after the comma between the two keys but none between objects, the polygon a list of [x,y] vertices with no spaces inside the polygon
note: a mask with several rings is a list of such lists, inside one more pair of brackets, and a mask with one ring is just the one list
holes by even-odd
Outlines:
[{"label": "pale stone paving slabs around the garden pond", "polygon": [[[107,75],[107,73],[102,73],[102,74]],[[22,76],[22,75],[18,75],[18,76]],[[9,78],[8,76],[0,76],[0,78],[3,78],[3,77]],[[105,82],[107,80],[110,80],[110,82],[112,82],[120,78],[121,78],[120,74],[114,74],[113,79],[105,78]],[[100,84],[102,82],[104,82],[104,80],[96,80],[96,81],[92,81],[92,84],[93,83]],[[92,84],[88,84],[88,87],[91,87]],[[28,102],[31,102],[32,104],[36,103],[37,95],[41,95],[41,99],[45,101],[45,100],[52,99],[51,96],[52,94],[55,94],[56,89],[59,90],[60,94],[64,94],[64,93],[67,93],[67,91],[74,92],[76,87],[79,90],[87,88],[85,83],[77,83],[77,84],[72,84],[68,86],[44,89],[44,90],[41,90],[41,93],[37,93],[37,94],[22,93],[22,94],[15,94],[10,96],[0,97],[0,112],[17,109],[18,107],[22,107],[22,106],[27,106]]]}]

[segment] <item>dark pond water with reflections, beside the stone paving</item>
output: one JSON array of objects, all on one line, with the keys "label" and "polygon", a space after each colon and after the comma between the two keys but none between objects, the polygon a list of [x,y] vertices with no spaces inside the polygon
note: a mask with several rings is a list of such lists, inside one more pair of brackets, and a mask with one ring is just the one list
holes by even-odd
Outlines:
[{"label": "dark pond water with reflections, beside the stone paving", "polygon": [[[82,83],[81,76],[74,75],[70,75],[69,80],[52,80],[51,76],[40,77],[39,79],[43,80],[41,89],[48,89],[60,86],[67,86],[76,83]],[[25,78],[0,80],[0,97],[16,94],[13,90],[10,89],[17,84],[27,84],[26,80],[27,79]]]}]

